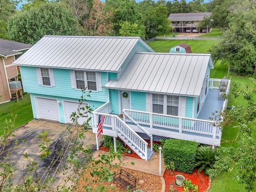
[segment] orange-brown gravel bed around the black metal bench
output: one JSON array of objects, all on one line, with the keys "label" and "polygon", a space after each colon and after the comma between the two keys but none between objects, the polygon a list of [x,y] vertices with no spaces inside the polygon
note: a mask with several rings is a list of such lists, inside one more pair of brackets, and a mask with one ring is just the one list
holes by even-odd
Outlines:
[{"label": "orange-brown gravel bed around the black metal bench", "polygon": [[[147,192],[160,192],[162,190],[162,180],[161,177],[153,174],[143,173],[140,171],[135,171],[131,169],[126,169],[124,167],[113,167],[111,168],[112,172],[119,173],[120,169],[123,169],[130,174],[132,174],[136,179],[136,188],[141,189]],[[93,182],[94,179],[90,174],[92,167],[88,167],[85,172],[83,173],[81,179],[78,181],[77,191],[86,191],[86,187],[92,187],[92,191],[95,191],[97,187],[102,186],[104,187],[103,191],[106,192],[115,192],[121,191],[125,192],[127,190],[121,188],[119,185],[114,186],[113,182],[106,182],[103,181],[101,184],[98,182]]]}]

